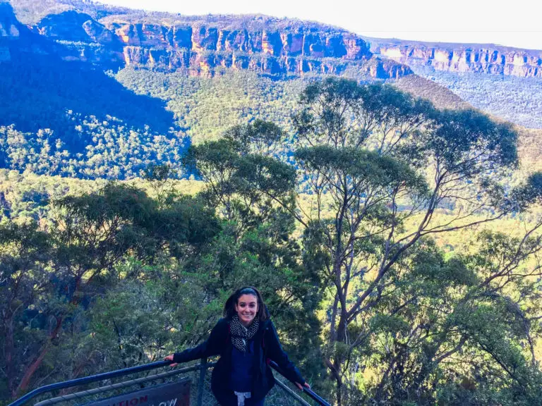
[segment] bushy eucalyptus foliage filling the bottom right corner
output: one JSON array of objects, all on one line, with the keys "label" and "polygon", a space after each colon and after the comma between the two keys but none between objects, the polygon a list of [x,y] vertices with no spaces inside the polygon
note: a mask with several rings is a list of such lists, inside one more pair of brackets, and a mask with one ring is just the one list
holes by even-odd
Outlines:
[{"label": "bushy eucalyptus foliage filling the bottom right corner", "polygon": [[[483,231],[447,256],[416,244],[390,271],[356,348],[378,371],[359,402],[532,405],[541,396],[540,223],[526,235]],[[351,326],[351,329],[356,326]]]}]

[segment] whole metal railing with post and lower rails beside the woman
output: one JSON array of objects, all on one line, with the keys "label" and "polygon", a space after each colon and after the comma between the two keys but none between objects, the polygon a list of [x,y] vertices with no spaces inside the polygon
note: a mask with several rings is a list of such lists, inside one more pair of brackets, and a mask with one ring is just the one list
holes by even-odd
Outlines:
[{"label": "whole metal railing with post and lower rails beside the woman", "polygon": [[[8,406],[22,406],[29,400],[34,399],[37,396],[42,395],[43,393],[49,393],[55,390],[62,390],[66,388],[73,388],[75,386],[83,386],[88,383],[110,380],[110,379],[118,378],[119,376],[127,376],[127,375],[136,374],[136,373],[140,373],[144,371],[150,371],[152,369],[157,369],[160,367],[167,367],[169,364],[171,364],[170,361],[152,362],[150,364],[139,365],[137,367],[119,369],[116,371],[104,372],[102,374],[85,376],[84,378],[72,379],[70,381],[52,383],[51,385],[42,386],[40,388],[32,390],[31,392],[27,393],[26,395],[19,398],[18,400],[16,400],[15,402],[11,403],[11,405],[8,405]],[[76,400],[76,399],[84,398],[88,395],[97,395],[99,393],[103,393],[108,390],[118,390],[121,388],[126,388],[128,386],[143,384],[147,381],[155,381],[157,379],[167,379],[167,378],[170,378],[171,376],[186,374],[190,371],[198,371],[198,370],[200,371],[200,374],[199,374],[199,379],[198,379],[198,393],[197,393],[197,398],[195,401],[196,401],[197,406],[202,406],[203,395],[205,391],[205,376],[207,374],[207,369],[210,367],[213,367],[215,364],[216,364],[215,362],[207,362],[207,359],[202,359],[200,364],[193,365],[192,367],[177,368],[172,371],[163,372],[162,374],[145,376],[143,378],[132,379],[131,381],[113,383],[108,386],[102,386],[100,388],[93,388],[90,390],[83,390],[77,393],[60,395],[60,396],[57,396],[56,398],[42,400],[41,402],[38,402],[35,406],[54,405],[58,402]],[[282,374],[282,371],[280,370],[278,365],[275,364],[275,362],[270,362],[270,366],[273,369],[275,369],[279,374],[284,376],[284,374]],[[290,398],[296,400],[297,402],[299,402],[299,404],[303,406],[311,406],[310,403],[308,403],[306,400],[301,398],[300,395],[295,393],[294,390],[289,388],[285,383],[283,383],[282,381],[279,381],[279,379],[277,379],[276,382],[277,382],[277,385],[282,390],[284,390],[284,393],[286,393]],[[303,387],[303,393],[306,393],[306,395],[308,395],[309,398],[314,400],[317,405],[330,406],[328,402],[326,402],[323,398],[320,398],[320,396],[310,388]]]}]

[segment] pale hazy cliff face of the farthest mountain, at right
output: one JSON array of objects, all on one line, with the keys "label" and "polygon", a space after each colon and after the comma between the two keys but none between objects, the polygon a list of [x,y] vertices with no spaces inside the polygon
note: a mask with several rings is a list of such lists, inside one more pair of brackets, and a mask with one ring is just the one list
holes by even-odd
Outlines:
[{"label": "pale hazy cliff face of the farthest mountain, at right", "polygon": [[[380,40],[383,41],[383,40]],[[371,41],[375,54],[409,66],[432,66],[450,72],[475,72],[542,78],[542,51],[490,45],[422,44]]]}]

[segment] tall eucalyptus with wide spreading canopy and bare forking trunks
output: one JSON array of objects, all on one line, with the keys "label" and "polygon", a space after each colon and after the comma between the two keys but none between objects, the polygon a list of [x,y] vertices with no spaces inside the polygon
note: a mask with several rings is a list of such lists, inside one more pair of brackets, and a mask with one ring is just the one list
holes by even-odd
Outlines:
[{"label": "tall eucalyptus with wide spreading canopy and bare forking trunks", "polygon": [[[424,238],[524,208],[502,186],[517,166],[517,134],[477,111],[439,111],[387,85],[330,78],[308,86],[300,104],[296,165],[314,204],[297,216],[318,230],[327,254],[325,362],[340,405],[356,368],[351,355],[375,333],[374,309],[397,288],[401,262]],[[404,298],[387,314],[408,305]]]}]

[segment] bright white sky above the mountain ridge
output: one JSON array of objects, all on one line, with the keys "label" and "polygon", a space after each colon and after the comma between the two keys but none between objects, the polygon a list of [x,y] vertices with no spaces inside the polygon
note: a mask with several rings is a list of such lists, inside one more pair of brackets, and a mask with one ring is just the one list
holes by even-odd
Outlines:
[{"label": "bright white sky above the mountain ridge", "polygon": [[337,25],[359,35],[542,49],[542,0],[98,0],[189,16],[253,14]]}]

